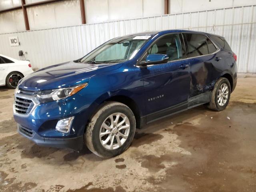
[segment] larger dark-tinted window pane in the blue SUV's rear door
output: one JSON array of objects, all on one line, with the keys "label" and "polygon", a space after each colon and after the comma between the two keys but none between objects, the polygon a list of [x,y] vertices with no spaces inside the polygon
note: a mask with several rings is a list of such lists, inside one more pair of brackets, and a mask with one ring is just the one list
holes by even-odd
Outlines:
[{"label": "larger dark-tinted window pane in the blue SUV's rear door", "polygon": [[188,42],[187,57],[196,57],[208,54],[206,37],[200,34],[184,33]]}]

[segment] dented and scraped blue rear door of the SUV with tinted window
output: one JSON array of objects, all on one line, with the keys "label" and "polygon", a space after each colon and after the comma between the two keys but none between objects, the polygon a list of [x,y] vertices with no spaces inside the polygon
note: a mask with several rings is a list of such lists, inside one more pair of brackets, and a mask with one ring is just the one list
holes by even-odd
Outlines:
[{"label": "dented and scraped blue rear door of the SUV with tinted window", "polygon": [[190,97],[210,91],[220,75],[219,49],[203,34],[182,33],[191,67]]}]

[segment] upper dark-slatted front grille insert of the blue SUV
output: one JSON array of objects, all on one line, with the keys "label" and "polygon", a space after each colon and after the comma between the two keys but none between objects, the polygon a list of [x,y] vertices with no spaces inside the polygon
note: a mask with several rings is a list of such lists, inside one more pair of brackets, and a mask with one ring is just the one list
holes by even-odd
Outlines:
[{"label": "upper dark-slatted front grille insert of the blue SUV", "polygon": [[33,106],[34,103],[32,102],[32,100],[20,98],[17,96],[15,97],[14,109],[18,114],[29,114]]}]

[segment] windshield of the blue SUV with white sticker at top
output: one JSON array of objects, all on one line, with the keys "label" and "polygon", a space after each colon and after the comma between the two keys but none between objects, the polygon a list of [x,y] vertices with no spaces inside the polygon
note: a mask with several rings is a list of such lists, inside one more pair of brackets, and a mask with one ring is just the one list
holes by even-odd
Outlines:
[{"label": "windshield of the blue SUV with white sticker at top", "polygon": [[75,62],[93,64],[124,62],[132,59],[150,37],[150,35],[134,35],[115,38]]}]

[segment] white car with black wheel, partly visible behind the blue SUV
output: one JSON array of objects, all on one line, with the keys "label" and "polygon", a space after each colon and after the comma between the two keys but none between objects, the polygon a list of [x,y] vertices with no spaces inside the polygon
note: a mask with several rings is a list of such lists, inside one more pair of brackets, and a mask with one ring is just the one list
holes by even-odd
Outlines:
[{"label": "white car with black wheel, partly visible behind the blue SUV", "polygon": [[32,73],[29,61],[16,60],[0,54],[0,86],[15,89],[24,76]]}]

